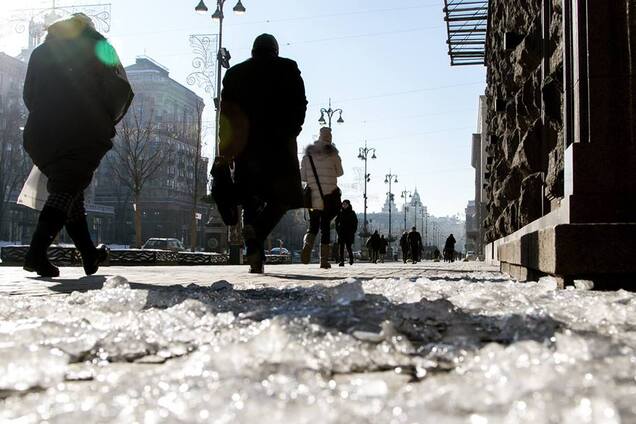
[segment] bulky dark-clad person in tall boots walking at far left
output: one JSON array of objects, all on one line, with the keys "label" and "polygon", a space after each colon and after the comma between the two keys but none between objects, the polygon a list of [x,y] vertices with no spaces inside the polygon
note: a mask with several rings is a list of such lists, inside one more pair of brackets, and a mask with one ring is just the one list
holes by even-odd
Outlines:
[{"label": "bulky dark-clad person in tall boots walking at far left", "polygon": [[115,125],[133,92],[115,49],[84,14],[54,23],[31,54],[24,82],[29,111],[24,149],[48,178],[48,198],[33,232],[24,269],[57,277],[47,249],[66,227],[87,275],[108,257],[95,247],[84,207],[84,190],[103,156],[113,147]]}]

